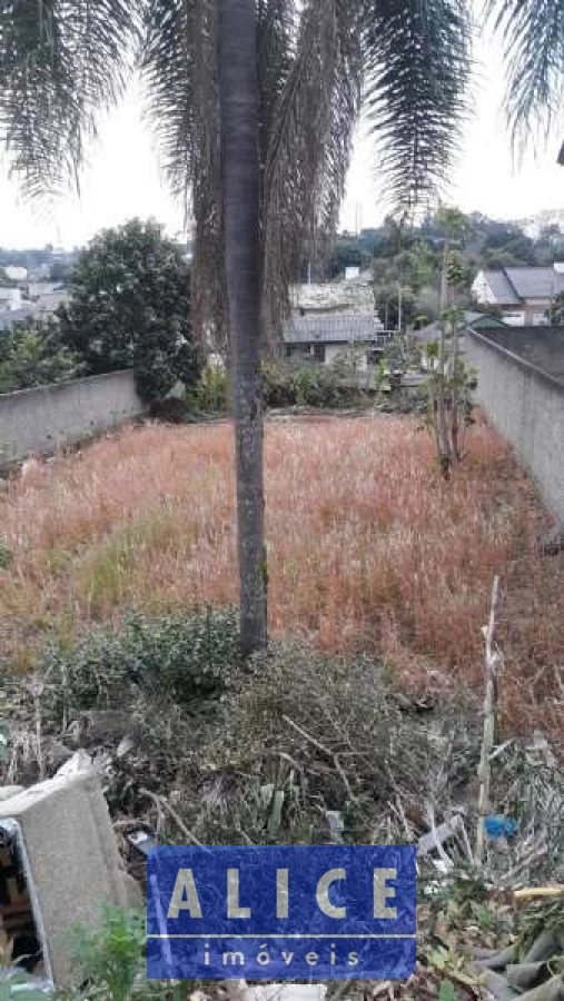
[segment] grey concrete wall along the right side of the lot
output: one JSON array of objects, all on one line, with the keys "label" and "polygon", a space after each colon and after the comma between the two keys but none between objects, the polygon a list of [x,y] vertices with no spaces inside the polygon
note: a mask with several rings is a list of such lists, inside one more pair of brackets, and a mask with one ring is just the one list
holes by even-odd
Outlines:
[{"label": "grey concrete wall along the right side of the lot", "polygon": [[[501,330],[468,331],[465,354],[478,371],[477,403],[514,446],[547,507],[564,525],[564,380],[512,350],[520,347],[514,343],[517,336],[516,330],[503,331],[502,344]],[[553,354],[553,344],[550,351],[542,350],[542,339],[554,340],[554,335],[541,327],[535,336],[537,358]],[[564,337],[561,348],[564,357]]]}]

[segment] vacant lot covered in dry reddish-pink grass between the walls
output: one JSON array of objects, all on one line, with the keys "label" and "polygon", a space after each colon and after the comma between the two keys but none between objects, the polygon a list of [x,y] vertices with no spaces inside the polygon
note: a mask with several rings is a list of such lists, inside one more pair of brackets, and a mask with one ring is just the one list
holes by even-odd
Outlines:
[{"label": "vacant lot covered in dry reddish-pink grass between the walls", "polygon": [[[493,576],[507,722],[562,724],[564,562],[540,558],[545,518],[483,425],[455,479],[404,419],[319,419],[267,429],[269,613],[275,634],[382,654],[410,687],[481,690]],[[0,497],[1,653],[127,608],[236,601],[231,432],[125,430],[14,482]],[[4,563],[8,562],[6,558]]]}]

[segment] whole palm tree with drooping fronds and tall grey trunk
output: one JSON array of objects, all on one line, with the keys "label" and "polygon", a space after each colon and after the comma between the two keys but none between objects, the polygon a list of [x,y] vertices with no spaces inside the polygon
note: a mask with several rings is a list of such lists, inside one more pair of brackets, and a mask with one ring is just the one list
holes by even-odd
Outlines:
[{"label": "whole palm tree with drooping fronds and tall grey trunk", "polygon": [[[562,107],[562,0],[486,0],[523,135]],[[400,215],[448,175],[471,71],[469,0],[0,0],[0,138],[31,195],[79,176],[133,66],[196,219],[197,325],[230,343],[241,645],[266,642],[260,341],[304,247],[334,230],[363,103]],[[517,128],[518,127],[518,128]],[[521,129],[521,132],[520,132]],[[228,331],[228,338],[227,334]]]}]

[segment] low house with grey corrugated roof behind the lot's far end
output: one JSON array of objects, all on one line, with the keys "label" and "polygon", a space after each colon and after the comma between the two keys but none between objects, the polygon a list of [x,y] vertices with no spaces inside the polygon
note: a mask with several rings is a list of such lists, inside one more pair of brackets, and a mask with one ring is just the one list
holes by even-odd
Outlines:
[{"label": "low house with grey corrugated roof behind the lot's far end", "polygon": [[388,336],[373,313],[295,315],[286,324],[284,344],[288,360],[325,365],[356,349],[359,367],[366,368],[377,360]]}]

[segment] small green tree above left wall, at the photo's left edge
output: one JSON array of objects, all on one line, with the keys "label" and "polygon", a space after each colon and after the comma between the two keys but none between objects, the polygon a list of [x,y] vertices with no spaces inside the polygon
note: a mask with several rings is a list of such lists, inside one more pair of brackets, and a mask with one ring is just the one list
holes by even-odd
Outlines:
[{"label": "small green tree above left wall, at the photo's left edge", "polygon": [[55,320],[16,324],[0,338],[0,393],[33,389],[81,374],[78,358],[61,344]]}]

